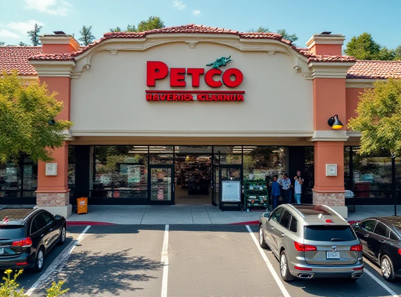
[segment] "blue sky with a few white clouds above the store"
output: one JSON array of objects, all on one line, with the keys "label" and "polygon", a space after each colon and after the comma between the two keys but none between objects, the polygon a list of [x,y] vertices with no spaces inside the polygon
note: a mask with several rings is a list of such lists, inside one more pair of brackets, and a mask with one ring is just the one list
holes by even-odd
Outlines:
[{"label": "blue sky with a few white clouds above the store", "polygon": [[395,48],[401,44],[400,10],[399,0],[0,0],[0,40],[30,44],[26,32],[35,23],[43,26],[41,34],[62,30],[76,38],[82,25],[92,26],[100,38],[109,28],[158,16],[166,27],[193,23],[239,31],[284,28],[297,34],[298,46],[323,31],[343,34],[345,42],[369,32],[379,44]]}]

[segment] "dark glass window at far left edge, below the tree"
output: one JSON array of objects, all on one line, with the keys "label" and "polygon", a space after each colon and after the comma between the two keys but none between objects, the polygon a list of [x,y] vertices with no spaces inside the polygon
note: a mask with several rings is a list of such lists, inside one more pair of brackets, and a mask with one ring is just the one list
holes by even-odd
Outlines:
[{"label": "dark glass window at far left edge, below the tree", "polygon": [[17,160],[0,164],[0,197],[21,197],[21,166]]}]

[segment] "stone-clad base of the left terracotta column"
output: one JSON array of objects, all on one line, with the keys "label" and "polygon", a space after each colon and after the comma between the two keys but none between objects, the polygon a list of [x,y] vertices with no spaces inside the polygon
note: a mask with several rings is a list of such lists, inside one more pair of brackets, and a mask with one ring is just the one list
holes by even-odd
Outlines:
[{"label": "stone-clad base of the left terracotta column", "polygon": [[53,215],[61,215],[65,218],[68,218],[72,213],[70,192],[37,192],[35,208],[45,209]]}]

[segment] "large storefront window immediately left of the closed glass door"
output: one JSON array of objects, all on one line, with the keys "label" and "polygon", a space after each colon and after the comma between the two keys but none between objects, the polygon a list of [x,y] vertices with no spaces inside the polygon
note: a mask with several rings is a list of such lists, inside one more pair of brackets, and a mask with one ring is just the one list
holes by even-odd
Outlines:
[{"label": "large storefront window immediately left of the closed glass door", "polygon": [[95,146],[91,197],[146,198],[147,148]]}]

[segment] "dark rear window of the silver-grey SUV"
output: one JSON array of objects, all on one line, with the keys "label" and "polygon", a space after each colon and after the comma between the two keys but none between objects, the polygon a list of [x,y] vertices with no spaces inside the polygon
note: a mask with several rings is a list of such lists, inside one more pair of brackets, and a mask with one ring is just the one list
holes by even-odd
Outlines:
[{"label": "dark rear window of the silver-grey SUV", "polygon": [[305,226],[305,239],[314,241],[352,241],[356,237],[350,226]]}]

